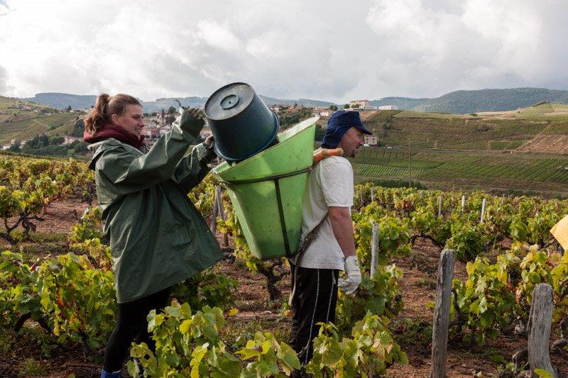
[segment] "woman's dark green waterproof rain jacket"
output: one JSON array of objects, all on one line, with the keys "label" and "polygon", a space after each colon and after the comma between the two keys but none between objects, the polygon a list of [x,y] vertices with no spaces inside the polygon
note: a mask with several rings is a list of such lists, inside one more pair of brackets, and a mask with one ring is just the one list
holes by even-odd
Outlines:
[{"label": "woman's dark green waterproof rain jacket", "polygon": [[187,198],[215,157],[179,126],[143,152],[114,138],[89,145],[118,303],[170,287],[222,259],[217,239]]}]

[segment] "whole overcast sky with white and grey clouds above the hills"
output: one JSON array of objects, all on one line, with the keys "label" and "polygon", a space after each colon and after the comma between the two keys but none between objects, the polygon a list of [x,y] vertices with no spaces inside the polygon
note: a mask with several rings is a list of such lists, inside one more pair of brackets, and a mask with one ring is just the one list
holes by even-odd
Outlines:
[{"label": "whole overcast sky with white and grey clouds above the hills", "polygon": [[565,0],[0,0],[0,95],[568,89]]}]

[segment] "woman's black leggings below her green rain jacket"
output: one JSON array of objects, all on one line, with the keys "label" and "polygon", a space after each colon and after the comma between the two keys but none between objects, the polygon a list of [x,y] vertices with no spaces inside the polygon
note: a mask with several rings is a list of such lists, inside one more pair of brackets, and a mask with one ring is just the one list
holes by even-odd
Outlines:
[{"label": "woman's black leggings below her green rain jacket", "polygon": [[168,304],[170,288],[143,296],[136,301],[119,304],[119,318],[112,331],[107,350],[104,352],[104,370],[116,372],[121,369],[133,341],[146,343],[155,351],[154,340],[148,333],[146,317],[151,310],[161,310]]}]

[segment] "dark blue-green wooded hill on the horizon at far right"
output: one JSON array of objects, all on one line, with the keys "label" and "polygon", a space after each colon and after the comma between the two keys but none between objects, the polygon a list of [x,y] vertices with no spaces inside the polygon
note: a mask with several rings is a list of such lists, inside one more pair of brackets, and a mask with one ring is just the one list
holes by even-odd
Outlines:
[{"label": "dark blue-green wooded hill on the horizon at far right", "polygon": [[540,101],[568,104],[568,91],[543,88],[453,91],[435,99],[429,99],[413,110],[461,114],[480,111],[509,111],[531,106]]}]

